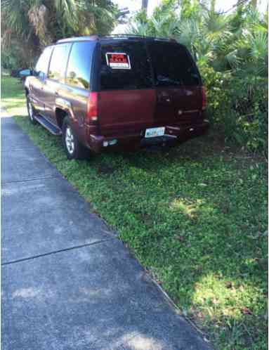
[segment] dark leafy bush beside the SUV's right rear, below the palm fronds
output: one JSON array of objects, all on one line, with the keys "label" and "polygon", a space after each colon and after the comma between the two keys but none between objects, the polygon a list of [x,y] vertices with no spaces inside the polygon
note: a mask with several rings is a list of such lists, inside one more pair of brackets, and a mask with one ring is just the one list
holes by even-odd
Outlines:
[{"label": "dark leafy bush beside the SUV's right rear, below the palm fronds", "polygon": [[211,124],[252,152],[267,154],[268,79],[237,77],[231,72],[216,72],[213,67],[199,67],[206,86]]}]

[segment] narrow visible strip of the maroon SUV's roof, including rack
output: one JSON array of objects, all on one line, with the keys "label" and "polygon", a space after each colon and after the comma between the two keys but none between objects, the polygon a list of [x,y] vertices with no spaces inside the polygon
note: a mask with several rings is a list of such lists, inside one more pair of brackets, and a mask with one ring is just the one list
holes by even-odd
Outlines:
[{"label": "narrow visible strip of the maroon SUV's roof, including rack", "polygon": [[159,37],[146,37],[143,35],[133,35],[133,34],[109,34],[109,35],[88,35],[85,37],[72,37],[72,38],[66,38],[66,39],[60,39],[56,41],[56,44],[62,44],[67,42],[73,42],[73,41],[113,41],[113,40],[131,40],[131,41],[170,41],[170,42],[177,42],[175,39],[165,39],[165,38],[159,38]]}]

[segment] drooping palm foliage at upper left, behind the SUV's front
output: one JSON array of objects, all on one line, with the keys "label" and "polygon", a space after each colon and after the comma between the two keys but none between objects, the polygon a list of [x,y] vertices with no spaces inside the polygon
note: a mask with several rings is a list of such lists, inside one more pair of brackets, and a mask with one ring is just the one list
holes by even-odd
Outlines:
[{"label": "drooping palm foliage at upper left, behind the SUV's front", "polygon": [[2,45],[20,47],[32,60],[63,37],[110,33],[118,12],[110,0],[3,0]]}]

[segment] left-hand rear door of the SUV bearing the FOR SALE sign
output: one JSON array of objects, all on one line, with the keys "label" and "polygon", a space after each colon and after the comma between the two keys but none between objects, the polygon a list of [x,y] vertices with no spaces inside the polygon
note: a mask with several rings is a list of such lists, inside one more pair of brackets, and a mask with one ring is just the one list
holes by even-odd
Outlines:
[{"label": "left-hand rear door of the SUV bearing the FOR SALE sign", "polygon": [[102,134],[154,123],[155,89],[143,41],[101,44],[98,118]]}]

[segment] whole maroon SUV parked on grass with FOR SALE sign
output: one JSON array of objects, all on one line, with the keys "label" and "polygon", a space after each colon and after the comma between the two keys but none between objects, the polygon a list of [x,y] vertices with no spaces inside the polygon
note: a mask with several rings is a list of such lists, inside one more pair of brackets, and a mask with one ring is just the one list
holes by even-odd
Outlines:
[{"label": "whole maroon SUV parked on grass with FOR SALE sign", "polygon": [[203,134],[206,96],[194,60],[174,40],[131,35],[63,39],[25,81],[32,123],[62,135],[67,156]]}]

